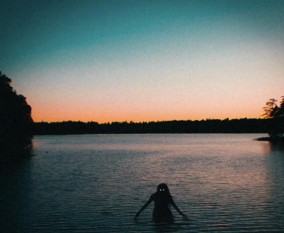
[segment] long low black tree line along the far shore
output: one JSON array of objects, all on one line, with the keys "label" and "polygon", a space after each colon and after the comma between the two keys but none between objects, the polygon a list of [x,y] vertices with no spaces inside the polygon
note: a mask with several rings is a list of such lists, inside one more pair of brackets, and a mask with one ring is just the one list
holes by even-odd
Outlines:
[{"label": "long low black tree line along the far shore", "polygon": [[119,133],[268,133],[271,119],[206,119],[149,122],[112,122],[99,124],[95,121],[35,122],[34,135],[66,134],[119,134]]}]

